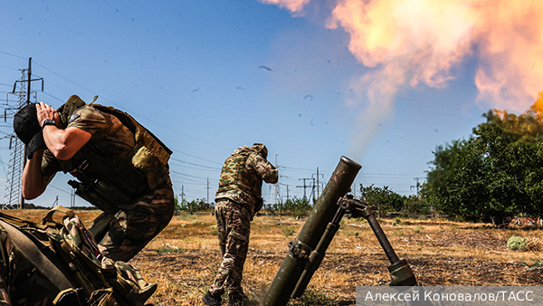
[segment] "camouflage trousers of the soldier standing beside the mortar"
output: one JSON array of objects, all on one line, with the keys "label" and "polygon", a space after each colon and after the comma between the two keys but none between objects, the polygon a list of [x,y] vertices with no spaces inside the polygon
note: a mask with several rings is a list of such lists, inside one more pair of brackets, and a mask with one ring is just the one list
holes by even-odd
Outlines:
[{"label": "camouflage trousers of the soldier standing beside the mortar", "polygon": [[243,293],[243,263],[247,257],[251,214],[244,206],[228,199],[220,200],[215,206],[219,246],[223,255],[209,293],[213,296]]}]

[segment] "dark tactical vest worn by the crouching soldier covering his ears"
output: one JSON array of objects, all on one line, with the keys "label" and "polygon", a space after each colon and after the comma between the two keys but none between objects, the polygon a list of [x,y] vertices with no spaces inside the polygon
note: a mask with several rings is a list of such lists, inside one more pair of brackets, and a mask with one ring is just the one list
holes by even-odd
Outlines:
[{"label": "dark tactical vest worn by the crouching soldier covering his ears", "polygon": [[[134,148],[126,157],[103,158],[85,145],[71,159],[58,161],[62,171],[70,172],[79,180],[68,182],[75,188],[76,195],[105,212],[115,214],[119,206],[127,204],[133,196],[167,181],[167,161],[172,151],[126,112],[100,104],[92,104],[91,107],[119,119],[134,134]],[[71,109],[71,113],[77,110]],[[63,117],[69,118],[71,113]]]}]

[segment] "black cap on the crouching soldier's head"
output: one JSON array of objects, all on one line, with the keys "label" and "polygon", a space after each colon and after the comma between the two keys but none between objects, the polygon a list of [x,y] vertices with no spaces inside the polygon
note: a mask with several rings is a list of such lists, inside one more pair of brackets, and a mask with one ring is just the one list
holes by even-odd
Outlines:
[{"label": "black cap on the crouching soldier's head", "polygon": [[40,148],[45,148],[43,132],[38,115],[36,104],[29,103],[14,116],[14,131],[17,137],[26,145],[26,157],[31,159],[33,153]]}]

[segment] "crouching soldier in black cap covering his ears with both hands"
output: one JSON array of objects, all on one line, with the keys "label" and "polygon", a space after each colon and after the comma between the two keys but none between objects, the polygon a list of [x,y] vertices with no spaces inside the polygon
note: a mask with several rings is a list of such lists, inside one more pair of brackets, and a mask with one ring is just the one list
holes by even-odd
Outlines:
[{"label": "crouching soldier in black cap covering his ears with both hands", "polygon": [[175,202],[167,159],[156,157],[165,146],[113,110],[73,95],[58,110],[43,102],[26,106],[14,128],[27,144],[24,198],[42,195],[57,172],[70,173],[76,194],[104,212],[90,225],[104,228],[93,233],[100,253],[128,262],[166,227]]}]

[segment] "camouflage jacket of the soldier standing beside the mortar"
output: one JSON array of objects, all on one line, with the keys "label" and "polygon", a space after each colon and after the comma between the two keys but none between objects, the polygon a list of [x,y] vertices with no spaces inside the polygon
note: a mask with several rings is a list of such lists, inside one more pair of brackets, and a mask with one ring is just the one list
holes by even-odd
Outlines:
[{"label": "camouflage jacket of the soldier standing beside the mortar", "polygon": [[224,161],[215,199],[231,199],[254,215],[254,205],[261,199],[262,180],[275,184],[278,177],[277,169],[261,154],[249,147],[237,148]]}]

